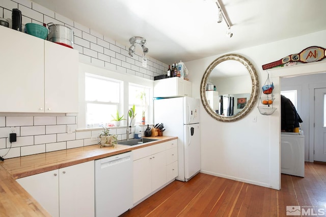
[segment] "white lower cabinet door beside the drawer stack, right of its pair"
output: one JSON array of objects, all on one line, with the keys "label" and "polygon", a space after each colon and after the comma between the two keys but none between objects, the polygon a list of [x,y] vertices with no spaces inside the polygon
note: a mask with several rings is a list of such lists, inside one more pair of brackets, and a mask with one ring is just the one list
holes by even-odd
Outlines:
[{"label": "white lower cabinet door beside the drawer stack, right of its pair", "polygon": [[165,151],[151,156],[152,191],[167,183],[167,164]]}]

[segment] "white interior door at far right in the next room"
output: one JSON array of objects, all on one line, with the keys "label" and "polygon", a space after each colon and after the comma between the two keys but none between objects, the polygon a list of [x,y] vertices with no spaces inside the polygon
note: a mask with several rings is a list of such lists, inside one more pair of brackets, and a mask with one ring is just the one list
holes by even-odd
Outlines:
[{"label": "white interior door at far right in the next room", "polygon": [[326,162],[326,88],[314,93],[314,160]]}]

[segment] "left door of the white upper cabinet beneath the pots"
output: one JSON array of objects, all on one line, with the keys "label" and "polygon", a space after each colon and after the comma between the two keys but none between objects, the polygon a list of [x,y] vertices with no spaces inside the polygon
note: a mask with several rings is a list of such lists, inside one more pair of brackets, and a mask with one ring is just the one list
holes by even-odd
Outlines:
[{"label": "left door of the white upper cabinet beneath the pots", "polygon": [[0,26],[0,112],[44,112],[44,40]]}]

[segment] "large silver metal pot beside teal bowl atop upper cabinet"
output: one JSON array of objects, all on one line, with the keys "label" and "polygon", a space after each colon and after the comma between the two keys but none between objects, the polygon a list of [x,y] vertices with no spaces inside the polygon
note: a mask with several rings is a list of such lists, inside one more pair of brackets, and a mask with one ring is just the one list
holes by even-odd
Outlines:
[{"label": "large silver metal pot beside teal bowl atop upper cabinet", "polygon": [[55,24],[52,22],[47,23],[49,26],[49,41],[66,47],[73,48],[73,30],[67,26]]}]

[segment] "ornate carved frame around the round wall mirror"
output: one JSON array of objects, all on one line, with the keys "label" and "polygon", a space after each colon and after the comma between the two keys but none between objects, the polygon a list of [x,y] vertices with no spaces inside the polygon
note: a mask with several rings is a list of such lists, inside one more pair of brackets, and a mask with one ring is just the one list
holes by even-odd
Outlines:
[{"label": "ornate carved frame around the round wall mirror", "polygon": [[[251,95],[250,95],[250,99],[248,100],[246,106],[244,106],[244,108],[237,114],[233,115],[233,116],[222,116],[219,114],[216,114],[212,108],[210,107],[207,98],[206,98],[206,84],[207,84],[207,80],[208,77],[211,73],[211,71],[220,63],[227,61],[227,60],[234,60],[234,61],[238,61],[241,64],[244,65],[244,67],[246,67],[246,69],[248,70],[251,80],[252,80],[252,90],[251,90]],[[253,66],[253,64],[247,60],[246,58],[240,56],[240,55],[235,55],[235,54],[228,54],[228,55],[224,55],[222,57],[219,57],[218,59],[214,60],[206,69],[203,78],[202,78],[202,82],[200,84],[200,98],[202,100],[203,106],[206,110],[206,112],[213,117],[214,119],[218,120],[218,121],[222,121],[222,122],[232,122],[232,121],[237,121],[241,118],[243,118],[244,116],[246,116],[254,107],[255,103],[257,102],[258,98],[259,98],[259,78],[258,78],[258,73],[255,69],[255,67]]]}]

